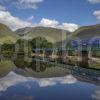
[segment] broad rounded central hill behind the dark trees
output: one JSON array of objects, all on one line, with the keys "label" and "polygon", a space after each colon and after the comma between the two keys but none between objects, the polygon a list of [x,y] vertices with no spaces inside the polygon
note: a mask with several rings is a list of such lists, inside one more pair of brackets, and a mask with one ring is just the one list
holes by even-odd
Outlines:
[{"label": "broad rounded central hill behind the dark trees", "polygon": [[24,39],[33,39],[38,36],[45,37],[52,43],[65,40],[69,34],[67,31],[50,27],[26,27],[23,29],[18,29],[15,31],[15,33]]}]

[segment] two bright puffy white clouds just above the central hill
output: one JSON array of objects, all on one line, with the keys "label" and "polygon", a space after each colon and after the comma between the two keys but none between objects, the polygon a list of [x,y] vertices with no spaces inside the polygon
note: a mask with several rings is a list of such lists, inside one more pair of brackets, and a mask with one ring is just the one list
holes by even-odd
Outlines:
[{"label": "two bright puffy white clouds just above the central hill", "polygon": [[40,21],[40,23],[38,25],[44,26],[44,27],[53,27],[53,28],[58,28],[58,29],[64,29],[64,30],[67,30],[70,32],[73,32],[79,28],[79,26],[74,23],[62,23],[60,25],[58,21],[50,20],[47,18],[42,18],[42,20]]}]

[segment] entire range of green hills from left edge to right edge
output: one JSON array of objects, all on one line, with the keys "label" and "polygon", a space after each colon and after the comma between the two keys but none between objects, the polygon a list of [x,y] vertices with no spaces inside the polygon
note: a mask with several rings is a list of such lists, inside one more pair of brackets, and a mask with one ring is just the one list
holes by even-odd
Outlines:
[{"label": "entire range of green hills from left edge to right edge", "polygon": [[0,44],[14,43],[20,37],[24,39],[33,39],[38,36],[45,37],[48,41],[61,45],[62,43],[66,44],[66,41],[75,37],[80,39],[100,37],[100,24],[83,26],[70,34],[68,31],[50,27],[26,27],[13,32],[9,27],[0,23]]}]

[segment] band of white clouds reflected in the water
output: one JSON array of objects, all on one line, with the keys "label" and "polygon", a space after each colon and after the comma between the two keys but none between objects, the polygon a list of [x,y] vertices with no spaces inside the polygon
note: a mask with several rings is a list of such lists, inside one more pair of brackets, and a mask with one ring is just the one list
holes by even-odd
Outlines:
[{"label": "band of white clouds reflected in the water", "polygon": [[[0,91],[6,91],[9,87],[15,86],[17,84],[25,82],[36,82],[40,87],[54,86],[57,83],[59,84],[74,84],[77,82],[77,79],[72,75],[65,77],[56,77],[56,78],[31,78],[17,75],[14,72],[10,72],[7,76],[0,79]],[[28,83],[25,84],[29,89],[31,86]]]}]

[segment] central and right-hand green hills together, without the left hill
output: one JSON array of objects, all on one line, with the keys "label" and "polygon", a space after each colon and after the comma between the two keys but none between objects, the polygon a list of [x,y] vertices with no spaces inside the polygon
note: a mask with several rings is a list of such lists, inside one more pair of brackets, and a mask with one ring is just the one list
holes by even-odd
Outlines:
[{"label": "central and right-hand green hills together, without the left hill", "polygon": [[50,27],[27,27],[16,31],[22,38],[32,39],[37,36],[45,37],[47,40],[56,43],[59,47],[64,47],[72,39],[91,39],[100,37],[100,24],[91,26],[82,26],[76,31],[70,33],[61,29]]}]

